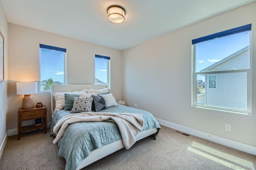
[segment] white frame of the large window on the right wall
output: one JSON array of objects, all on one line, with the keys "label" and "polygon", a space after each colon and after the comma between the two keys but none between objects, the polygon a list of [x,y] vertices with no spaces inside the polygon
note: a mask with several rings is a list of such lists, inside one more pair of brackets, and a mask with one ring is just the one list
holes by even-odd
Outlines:
[{"label": "white frame of the large window on the right wall", "polygon": [[[247,27],[246,29],[248,29],[249,26],[251,28],[251,24],[244,25],[242,27]],[[237,27],[237,28],[239,28],[239,27]],[[234,29],[236,29],[236,28],[234,28]],[[234,29],[230,29],[230,30],[234,30]],[[227,31],[229,31],[229,30],[227,30]],[[220,33],[227,32],[227,31],[222,31]],[[213,110],[230,112],[230,113],[240,113],[240,114],[245,114],[245,115],[252,115],[252,48],[251,48],[252,47],[252,31],[251,31],[251,29],[247,30],[247,31],[250,31],[249,32],[249,36],[250,36],[250,49],[249,49],[249,51],[250,51],[249,52],[249,54],[250,54],[250,68],[243,68],[243,69],[236,69],[236,70],[216,70],[216,71],[196,72],[196,43],[192,42],[192,49],[191,49],[191,51],[192,51],[191,106],[192,107],[198,107],[198,108],[204,108],[204,109],[213,109]],[[220,33],[216,33],[216,34],[218,35]],[[239,33],[239,32],[234,32],[234,33],[231,33],[229,35],[234,35],[236,33]],[[228,36],[228,35],[226,35],[226,36]],[[208,35],[208,36],[205,36],[205,37],[211,37],[212,39],[214,39],[214,34]],[[223,34],[222,34],[221,37],[224,37]],[[200,42],[203,42],[202,41],[203,37],[198,38],[198,39],[200,39]],[[195,39],[195,40],[197,40],[197,39]],[[210,39],[207,39],[205,41],[208,41],[208,40],[210,40]],[[198,41],[198,43],[199,43],[199,41]],[[218,79],[218,74],[231,73],[231,72],[246,72],[246,74],[247,74],[247,110],[197,104],[197,75],[198,74],[206,74],[207,76],[209,76],[208,74],[212,74],[214,76],[217,75],[216,76],[216,82],[217,82],[218,81],[217,80]],[[216,85],[216,89],[217,89],[217,87],[218,87],[218,85]],[[209,88],[209,87],[206,87],[206,83],[205,83],[205,90],[206,90],[206,88]],[[214,89],[214,88],[211,88],[211,89]]]}]

